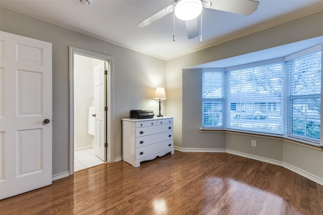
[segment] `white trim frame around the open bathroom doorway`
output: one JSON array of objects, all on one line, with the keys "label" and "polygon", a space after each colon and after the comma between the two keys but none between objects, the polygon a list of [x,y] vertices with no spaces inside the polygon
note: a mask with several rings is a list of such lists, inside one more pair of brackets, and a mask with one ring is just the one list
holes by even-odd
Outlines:
[{"label": "white trim frame around the open bathroom doorway", "polygon": [[107,95],[109,98],[107,99],[107,107],[108,107],[108,114],[109,118],[107,120],[107,127],[109,129],[106,131],[109,138],[107,139],[107,162],[113,163],[114,162],[114,125],[113,125],[113,57],[99,54],[91,51],[87,51],[80,48],[75,48],[70,46],[70,162],[69,162],[69,174],[74,174],[74,140],[75,140],[75,134],[74,134],[74,106],[75,106],[75,98],[74,98],[74,54],[80,54],[83,56],[88,56],[92,58],[98,58],[101,60],[109,61],[109,69],[108,69],[108,75],[107,75],[107,84],[109,85],[109,95]]}]

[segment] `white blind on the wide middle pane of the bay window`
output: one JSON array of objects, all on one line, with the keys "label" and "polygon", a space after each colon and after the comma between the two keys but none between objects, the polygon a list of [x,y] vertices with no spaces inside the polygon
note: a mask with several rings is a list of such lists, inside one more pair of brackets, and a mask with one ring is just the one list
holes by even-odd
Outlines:
[{"label": "white blind on the wide middle pane of the bay window", "polygon": [[229,68],[228,128],[284,133],[284,60]]}]

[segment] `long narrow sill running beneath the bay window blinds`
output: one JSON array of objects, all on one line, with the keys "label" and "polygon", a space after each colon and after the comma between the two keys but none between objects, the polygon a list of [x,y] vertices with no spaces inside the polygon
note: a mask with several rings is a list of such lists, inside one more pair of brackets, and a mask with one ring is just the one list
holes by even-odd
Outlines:
[{"label": "long narrow sill running beneath the bay window blinds", "polygon": [[246,135],[246,136],[264,137],[268,139],[277,139],[277,140],[287,141],[292,144],[300,145],[303,147],[315,149],[318,151],[323,151],[323,145],[315,144],[313,142],[302,141],[292,137],[275,135],[275,134],[263,134],[263,133],[255,133],[255,132],[245,132],[245,131],[237,131],[237,130],[229,130],[229,129],[212,129],[212,128],[200,128],[200,132],[222,132],[222,133],[233,133],[233,134],[240,134],[240,135]]}]

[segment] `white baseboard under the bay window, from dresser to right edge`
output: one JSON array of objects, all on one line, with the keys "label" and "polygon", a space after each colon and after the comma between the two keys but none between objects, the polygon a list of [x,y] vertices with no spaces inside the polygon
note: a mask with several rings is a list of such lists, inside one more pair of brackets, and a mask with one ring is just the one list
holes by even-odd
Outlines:
[{"label": "white baseboard under the bay window, from dresser to right edge", "polygon": [[257,161],[262,161],[265,163],[269,163],[269,164],[274,164],[274,165],[278,165],[278,166],[282,166],[290,171],[293,171],[294,173],[297,173],[317,184],[320,184],[323,186],[323,179],[319,178],[311,173],[308,173],[304,170],[301,170],[297,167],[294,167],[288,163],[282,162],[282,161],[277,161],[274,159],[269,159],[269,158],[263,158],[260,156],[255,156],[255,155],[250,155],[250,154],[246,154],[246,153],[241,153],[241,152],[237,152],[237,151],[233,151],[233,150],[226,150],[226,149],[195,149],[195,148],[179,148],[179,147],[174,147],[175,150],[180,151],[180,152],[210,152],[210,153],[214,153],[214,152],[225,152],[225,153],[229,153],[232,155],[237,155],[237,156],[241,156],[241,157],[245,157],[245,158],[250,158],[253,160],[257,160]]}]

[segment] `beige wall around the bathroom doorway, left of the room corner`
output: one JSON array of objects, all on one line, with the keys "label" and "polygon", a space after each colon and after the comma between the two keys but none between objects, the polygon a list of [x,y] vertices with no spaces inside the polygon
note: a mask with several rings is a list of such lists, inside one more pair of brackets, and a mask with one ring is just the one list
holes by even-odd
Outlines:
[{"label": "beige wall around the bathroom doorway, left of the room corner", "polygon": [[[0,8],[0,30],[52,43],[52,174],[69,171],[69,46],[113,57],[114,157],[120,158],[121,119],[131,109],[158,112],[152,99],[166,87],[166,62],[44,21]],[[166,102],[162,102],[166,114]]]}]

